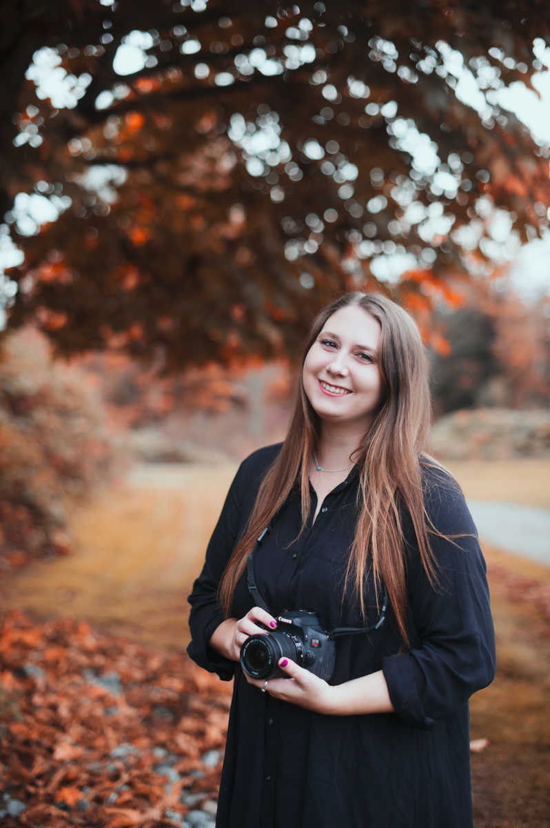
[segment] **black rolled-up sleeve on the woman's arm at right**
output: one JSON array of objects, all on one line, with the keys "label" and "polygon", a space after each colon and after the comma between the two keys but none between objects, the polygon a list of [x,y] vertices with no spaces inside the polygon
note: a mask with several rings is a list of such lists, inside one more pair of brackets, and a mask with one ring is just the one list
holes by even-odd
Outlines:
[{"label": "black rolled-up sleeve on the woman's arm at right", "polygon": [[406,724],[433,729],[436,720],[459,710],[495,677],[495,631],[490,614],[485,561],[462,492],[438,474],[426,493],[434,527],[430,535],[438,584],[420,562],[411,523],[408,537],[409,619],[412,648],[385,657],[383,672],[395,712]]}]

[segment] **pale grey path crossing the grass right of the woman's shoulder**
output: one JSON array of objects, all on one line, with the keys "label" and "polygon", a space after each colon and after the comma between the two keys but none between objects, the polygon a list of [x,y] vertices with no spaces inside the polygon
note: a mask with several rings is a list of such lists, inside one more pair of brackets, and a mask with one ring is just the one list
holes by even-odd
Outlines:
[{"label": "pale grey path crossing the grass right of the woman's shoulder", "polygon": [[550,510],[468,499],[480,537],[503,551],[550,566]]}]

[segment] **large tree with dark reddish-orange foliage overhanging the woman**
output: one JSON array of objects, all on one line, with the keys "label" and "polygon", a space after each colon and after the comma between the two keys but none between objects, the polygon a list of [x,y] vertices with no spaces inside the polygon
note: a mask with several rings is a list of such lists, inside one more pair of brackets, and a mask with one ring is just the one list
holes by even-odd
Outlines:
[{"label": "large tree with dark reddish-orange foliage overhanging the woman", "polygon": [[[0,7],[0,185],[7,207],[36,196],[7,211],[26,254],[10,324],[37,320],[61,353],[294,353],[354,286],[391,291],[429,338],[448,277],[505,255],[495,219],[518,240],[548,224],[550,152],[497,103],[541,67],[546,4],[108,2]],[[69,107],[41,80],[55,60]],[[40,197],[62,214],[33,234]]]}]

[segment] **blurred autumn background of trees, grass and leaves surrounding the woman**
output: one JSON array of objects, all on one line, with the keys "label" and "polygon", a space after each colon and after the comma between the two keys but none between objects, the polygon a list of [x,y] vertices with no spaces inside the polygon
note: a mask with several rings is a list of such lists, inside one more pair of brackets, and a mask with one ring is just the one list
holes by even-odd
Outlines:
[{"label": "blurred autumn background of trees, grass and leaves surrounding the woman", "polygon": [[8,828],[213,824],[227,688],[183,655],[186,596],[238,463],[284,439],[313,315],[357,289],[418,323],[431,450],[489,565],[476,828],[547,826],[548,8],[3,0],[0,18]]}]

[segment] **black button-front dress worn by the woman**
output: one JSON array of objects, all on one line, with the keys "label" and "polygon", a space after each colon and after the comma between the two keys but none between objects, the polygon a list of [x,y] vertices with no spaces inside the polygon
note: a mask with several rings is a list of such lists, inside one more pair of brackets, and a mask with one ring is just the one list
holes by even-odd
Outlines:
[{"label": "black button-front dress worn by the woman", "polygon": [[[424,473],[428,514],[456,543],[433,537],[438,590],[420,564],[408,513],[408,630],[403,651],[391,614],[375,632],[337,639],[341,684],[384,671],[395,713],[331,716],[275,700],[246,683],[236,662],[208,640],[223,617],[216,590],[279,445],[242,463],[208,545],[189,602],[189,656],[223,680],[235,676],[217,828],[471,828],[468,699],[495,675],[495,635],[485,561],[457,485],[439,470]],[[291,493],[254,559],[256,585],[274,614],[316,612],[324,628],[362,627],[357,606],[342,602],[342,575],[354,534],[359,475],[327,495],[312,527],[300,528],[299,493]],[[367,623],[375,622],[374,585]],[[243,576],[233,614],[253,606]]]}]

